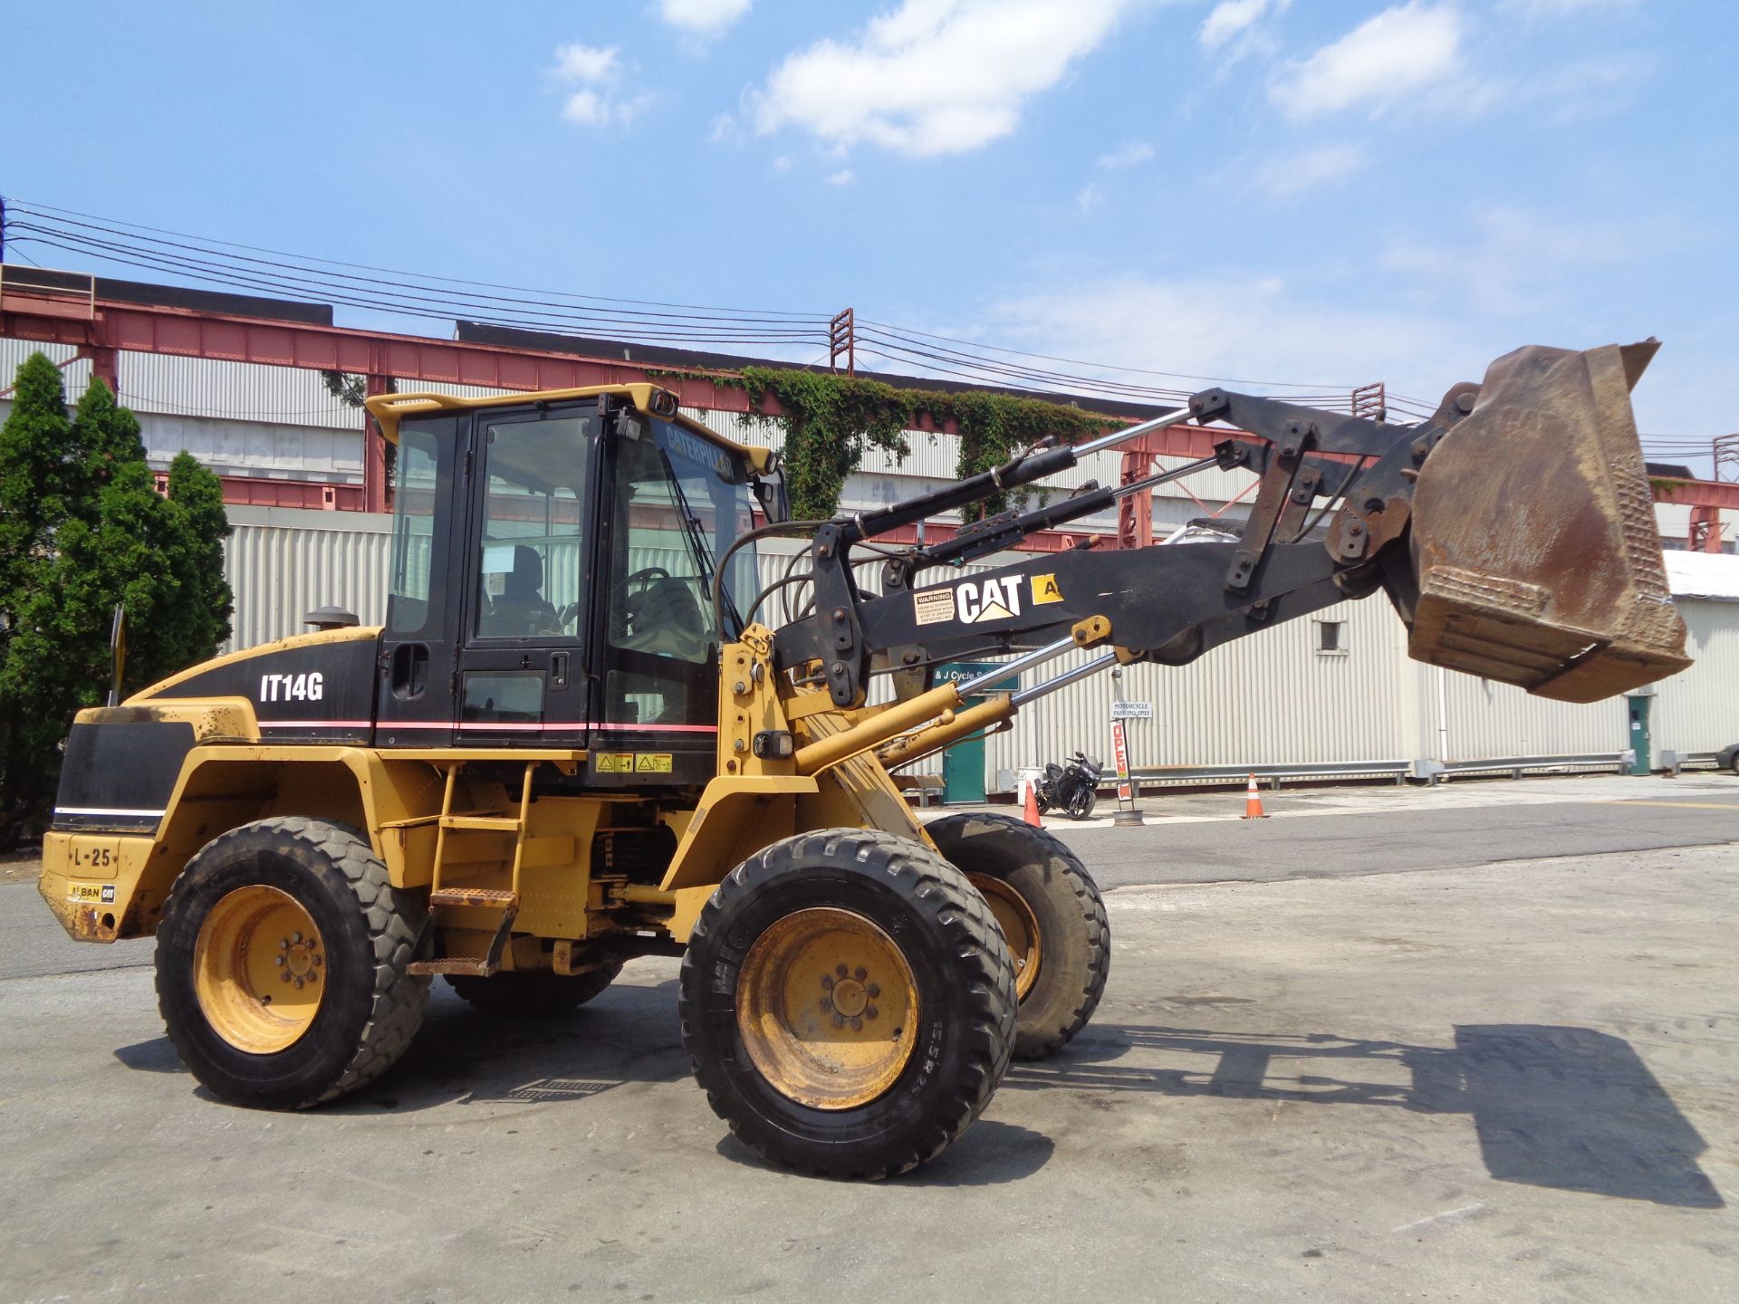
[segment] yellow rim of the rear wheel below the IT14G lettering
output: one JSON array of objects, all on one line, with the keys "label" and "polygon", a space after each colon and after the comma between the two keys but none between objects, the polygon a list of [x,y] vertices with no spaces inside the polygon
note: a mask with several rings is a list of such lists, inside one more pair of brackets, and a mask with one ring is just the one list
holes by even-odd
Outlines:
[{"label": "yellow rim of the rear wheel below the IT14G lettering", "polygon": [[325,946],[289,892],[238,887],[193,944],[193,991],[205,1022],[237,1050],[270,1055],[308,1031],[327,986]]}]

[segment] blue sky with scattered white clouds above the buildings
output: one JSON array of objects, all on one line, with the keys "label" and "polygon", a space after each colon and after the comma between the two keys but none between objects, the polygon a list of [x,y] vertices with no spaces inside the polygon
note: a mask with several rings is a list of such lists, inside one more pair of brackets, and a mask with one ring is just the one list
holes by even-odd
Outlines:
[{"label": "blue sky with scattered white clouds above the buildings", "polygon": [[1739,429],[1729,3],[0,10],[26,202],[1426,400],[1518,344],[1654,334],[1643,429]]}]

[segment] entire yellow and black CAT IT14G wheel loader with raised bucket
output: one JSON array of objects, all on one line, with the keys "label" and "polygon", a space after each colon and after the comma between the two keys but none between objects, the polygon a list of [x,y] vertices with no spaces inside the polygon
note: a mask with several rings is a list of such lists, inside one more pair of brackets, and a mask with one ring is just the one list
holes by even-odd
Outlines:
[{"label": "entire yellow and black CAT IT14G wheel loader with raised bucket", "polygon": [[[1109,930],[1061,842],[918,824],[890,770],[1096,669],[1379,589],[1412,655],[1548,697],[1680,669],[1629,409],[1654,348],[1525,348],[1416,426],[1209,389],[828,522],[784,520],[777,459],[656,386],[370,398],[398,447],[384,626],[82,711],[42,892],[77,939],[157,935],[169,1036],[224,1101],[370,1081],[433,975],[490,1012],[562,1012],[633,956],[682,955],[694,1074],[743,1141],[817,1174],[911,1168],[1010,1055],[1087,1024]],[[1183,421],[1226,428],[1212,457],[875,542]],[[1214,466],[1261,478],[1235,542],[951,569]],[[810,598],[770,628],[790,595],[762,591],[755,546],[776,534],[807,541]],[[988,683],[930,685],[998,654],[991,682],[1024,687],[967,706]]]}]

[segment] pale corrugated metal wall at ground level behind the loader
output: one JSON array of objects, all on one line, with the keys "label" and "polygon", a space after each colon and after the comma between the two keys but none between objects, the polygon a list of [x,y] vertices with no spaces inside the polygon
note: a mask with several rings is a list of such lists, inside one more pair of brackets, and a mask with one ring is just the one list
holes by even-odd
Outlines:
[{"label": "pale corrugated metal wall at ground level behind the loader", "polygon": [[[228,575],[237,593],[235,647],[301,633],[325,603],[365,624],[384,615],[388,516],[231,508]],[[791,544],[762,553],[762,582],[784,574]],[[654,558],[656,560],[656,558]],[[995,562],[995,558],[991,560]],[[989,570],[970,565],[963,574]],[[873,588],[875,569],[863,579]],[[1739,603],[1682,600],[1697,664],[1659,685],[1656,748],[1711,751],[1739,739]],[[783,621],[777,598],[760,612]],[[1341,652],[1320,652],[1318,624],[1341,622]],[[1036,683],[1075,664],[1026,676]],[[875,699],[885,697],[878,680]],[[1466,675],[1445,675],[1450,760],[1622,751],[1622,701],[1570,706]],[[1063,689],[1023,711],[986,744],[991,788],[1002,770],[1111,751],[1108,675]],[[1149,765],[1287,765],[1436,758],[1436,671],[1407,657],[1405,629],[1381,596],[1346,602],[1252,638],[1214,649],[1189,666],[1130,666],[1122,694],[1153,702],[1153,720],[1130,725],[1132,762]],[[941,758],[915,767],[939,774]]]}]

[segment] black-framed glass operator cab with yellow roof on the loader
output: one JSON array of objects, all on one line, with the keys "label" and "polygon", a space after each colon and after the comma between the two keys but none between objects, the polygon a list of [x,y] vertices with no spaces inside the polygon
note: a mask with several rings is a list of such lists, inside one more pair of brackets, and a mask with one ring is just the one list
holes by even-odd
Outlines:
[{"label": "black-framed glass operator cab with yellow roof on the loader", "polygon": [[779,489],[763,450],[675,409],[652,386],[370,403],[398,450],[377,744],[584,748],[605,788],[711,777],[755,549],[716,609],[715,567]]}]

